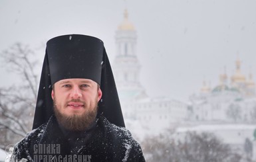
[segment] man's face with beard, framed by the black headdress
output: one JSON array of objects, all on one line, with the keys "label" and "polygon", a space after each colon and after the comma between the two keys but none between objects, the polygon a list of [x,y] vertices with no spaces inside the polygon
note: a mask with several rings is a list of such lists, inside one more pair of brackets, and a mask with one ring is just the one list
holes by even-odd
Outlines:
[{"label": "man's face with beard, framed by the black headdress", "polygon": [[85,130],[95,120],[102,91],[90,79],[63,79],[52,91],[55,116],[68,130]]}]

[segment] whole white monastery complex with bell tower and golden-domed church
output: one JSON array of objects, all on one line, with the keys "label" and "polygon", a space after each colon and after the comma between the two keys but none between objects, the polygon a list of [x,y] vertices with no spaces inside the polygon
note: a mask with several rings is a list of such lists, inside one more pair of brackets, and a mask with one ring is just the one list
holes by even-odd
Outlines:
[{"label": "whole white monastery complex with bell tower and golden-domed church", "polygon": [[[230,78],[224,71],[219,75],[219,85],[213,89],[204,82],[199,94],[192,95],[189,103],[166,97],[154,99],[146,94],[140,83],[136,29],[128,20],[127,11],[116,30],[115,40],[116,57],[112,68],[126,127],[132,133],[153,134],[164,128],[174,129],[178,137],[188,131],[212,132],[241,153],[244,153],[245,140],[253,142],[256,129],[255,82],[251,74],[248,79],[243,75],[240,60],[235,62],[236,70]],[[154,130],[159,127],[159,130]],[[253,159],[256,159],[256,142],[253,145]]]}]

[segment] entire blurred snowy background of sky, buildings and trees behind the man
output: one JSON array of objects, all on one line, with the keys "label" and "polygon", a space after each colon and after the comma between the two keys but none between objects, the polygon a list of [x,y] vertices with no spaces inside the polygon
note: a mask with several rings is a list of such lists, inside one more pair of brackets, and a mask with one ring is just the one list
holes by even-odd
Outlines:
[{"label": "entire blurred snowy background of sky, buildings and trees behind the man", "polygon": [[47,40],[86,34],[104,42],[126,127],[147,161],[255,161],[255,6],[2,0],[2,154],[31,131]]}]

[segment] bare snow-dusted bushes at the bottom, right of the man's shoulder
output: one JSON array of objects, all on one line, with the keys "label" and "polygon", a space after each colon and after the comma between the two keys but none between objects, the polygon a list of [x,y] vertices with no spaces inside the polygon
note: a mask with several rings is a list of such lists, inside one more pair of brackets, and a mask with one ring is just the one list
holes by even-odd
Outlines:
[{"label": "bare snow-dusted bushes at the bottom, right of the man's shoulder", "polygon": [[174,140],[172,133],[146,138],[142,142],[147,161],[170,162],[239,162],[241,155],[214,134],[188,132],[183,140]]}]

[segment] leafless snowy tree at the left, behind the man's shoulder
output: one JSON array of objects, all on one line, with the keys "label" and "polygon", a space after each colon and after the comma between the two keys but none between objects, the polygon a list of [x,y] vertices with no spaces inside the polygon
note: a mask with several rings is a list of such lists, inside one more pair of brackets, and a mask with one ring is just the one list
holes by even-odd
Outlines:
[{"label": "leafless snowy tree at the left, behind the man's shoulder", "polygon": [[17,142],[24,137],[33,120],[37,99],[38,78],[35,73],[37,61],[29,46],[13,44],[1,52],[2,65],[16,75],[13,85],[0,87],[0,147]]}]

